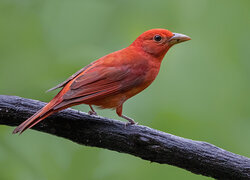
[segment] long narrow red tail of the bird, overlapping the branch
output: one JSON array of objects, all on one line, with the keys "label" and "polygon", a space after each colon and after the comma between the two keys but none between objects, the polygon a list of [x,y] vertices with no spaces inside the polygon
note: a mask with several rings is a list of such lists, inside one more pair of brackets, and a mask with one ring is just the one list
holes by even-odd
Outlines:
[{"label": "long narrow red tail of the bird, overlapping the branch", "polygon": [[[53,99],[54,100],[54,99]],[[46,106],[44,106],[42,109],[40,109],[38,112],[36,112],[33,116],[31,116],[29,119],[24,121],[22,124],[20,124],[16,129],[14,129],[13,134],[19,133],[21,134],[26,129],[29,129],[48,117],[49,115],[57,112],[53,110],[53,107],[56,105],[54,101],[49,102]]]}]

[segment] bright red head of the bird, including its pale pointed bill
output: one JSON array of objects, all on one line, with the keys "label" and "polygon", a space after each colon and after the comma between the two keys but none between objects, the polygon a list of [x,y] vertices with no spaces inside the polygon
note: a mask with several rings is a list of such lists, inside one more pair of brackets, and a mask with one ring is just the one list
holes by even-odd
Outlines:
[{"label": "bright red head of the bird, including its pale pointed bill", "polygon": [[151,29],[142,33],[131,45],[155,57],[163,57],[170,47],[190,39],[184,34],[172,33],[166,29]]}]

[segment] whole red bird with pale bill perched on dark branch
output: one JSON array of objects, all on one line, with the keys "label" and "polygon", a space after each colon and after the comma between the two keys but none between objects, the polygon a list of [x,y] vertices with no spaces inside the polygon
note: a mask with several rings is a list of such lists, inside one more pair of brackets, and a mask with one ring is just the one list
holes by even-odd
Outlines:
[{"label": "whole red bird with pale bill perched on dark branch", "polygon": [[13,133],[22,133],[49,115],[78,104],[115,108],[118,116],[135,124],[123,115],[123,103],[147,88],[156,78],[161,61],[174,44],[190,37],[166,29],[152,29],[141,34],[130,46],[108,54],[87,65],[63,83],[50,89],[61,91],[41,110],[19,125]]}]

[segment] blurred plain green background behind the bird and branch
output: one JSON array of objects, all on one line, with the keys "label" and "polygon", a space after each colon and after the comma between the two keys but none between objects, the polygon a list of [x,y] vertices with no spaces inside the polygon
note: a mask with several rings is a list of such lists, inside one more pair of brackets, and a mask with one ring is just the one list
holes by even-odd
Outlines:
[{"label": "blurred plain green background behind the bird and branch", "polygon": [[[142,125],[250,156],[249,0],[0,0],[0,94],[48,102],[45,91],[142,32],[174,46],[155,82],[125,103]],[[75,107],[87,112],[86,105]],[[99,115],[116,118],[114,111]],[[210,179],[127,154],[0,127],[1,180]]]}]

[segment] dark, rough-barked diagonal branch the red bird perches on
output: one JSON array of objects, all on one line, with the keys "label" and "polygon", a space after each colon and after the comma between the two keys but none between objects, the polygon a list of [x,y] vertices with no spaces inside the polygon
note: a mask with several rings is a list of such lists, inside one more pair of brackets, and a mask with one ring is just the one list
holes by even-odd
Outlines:
[{"label": "dark, rough-barked diagonal branch the red bird perches on", "polygon": [[[17,126],[45,103],[0,95],[0,124]],[[206,142],[66,109],[34,126],[73,142],[128,153],[217,179],[250,179],[250,159]]]}]

